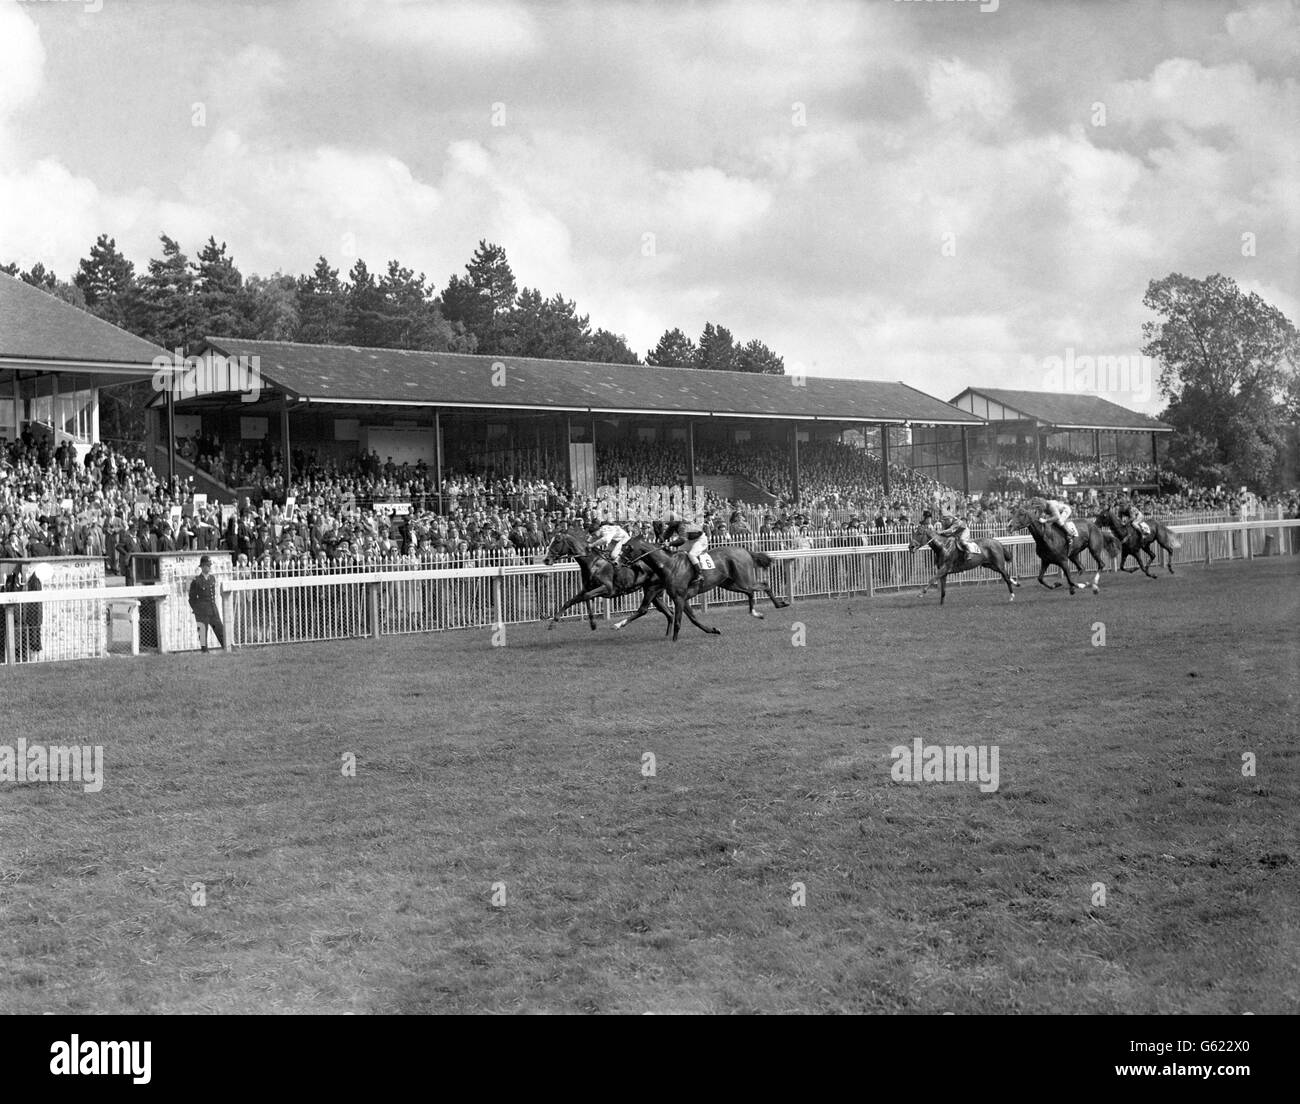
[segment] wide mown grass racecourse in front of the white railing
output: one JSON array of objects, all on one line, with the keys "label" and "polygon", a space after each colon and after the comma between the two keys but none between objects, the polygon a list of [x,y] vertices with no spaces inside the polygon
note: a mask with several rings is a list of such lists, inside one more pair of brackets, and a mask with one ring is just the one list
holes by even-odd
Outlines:
[{"label": "wide mown grass racecourse in front of the white railing", "polygon": [[1296,1012],[1297,575],[5,671],[0,1010]]}]

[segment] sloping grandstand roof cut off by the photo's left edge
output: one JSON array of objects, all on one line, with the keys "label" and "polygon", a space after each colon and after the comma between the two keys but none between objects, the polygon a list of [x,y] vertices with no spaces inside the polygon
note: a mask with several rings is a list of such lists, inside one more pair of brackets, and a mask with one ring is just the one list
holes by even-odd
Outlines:
[{"label": "sloping grandstand roof cut off by the photo's left edge", "polygon": [[0,358],[147,368],[165,348],[0,273]]}]

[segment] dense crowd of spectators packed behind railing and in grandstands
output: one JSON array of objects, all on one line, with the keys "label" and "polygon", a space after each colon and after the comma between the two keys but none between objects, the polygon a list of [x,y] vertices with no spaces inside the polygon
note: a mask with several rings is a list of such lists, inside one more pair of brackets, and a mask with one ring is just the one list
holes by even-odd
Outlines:
[{"label": "dense crowd of spectators packed behind railing and in grandstands", "polygon": [[[101,442],[82,460],[70,445],[52,449],[32,437],[0,447],[0,559],[103,557],[109,573],[131,576],[131,555],[173,550],[229,551],[248,571],[356,570],[368,566],[460,566],[536,559],[550,536],[602,512],[594,498],[572,495],[558,473],[515,479],[452,471],[437,485],[424,463],[381,462],[373,453],[341,466],[295,453],[285,486],[278,451],[265,443],[226,456],[220,442],[178,442],[182,455],[222,482],[252,489],[240,508],[196,503],[191,479],[160,479],[138,450]],[[776,497],[772,503],[708,501],[714,540],[896,538],[926,508],[948,508],[974,525],[1001,524],[1023,492],[966,499],[956,489],[902,466],[883,488],[879,458],[846,445],[801,447],[801,497],[793,501],[783,450],[703,447],[697,471],[742,476]],[[611,446],[598,454],[598,480],[663,486],[681,482],[681,451],[650,445]],[[1208,490],[1178,481],[1170,493],[1138,495],[1148,515],[1201,511],[1257,515],[1282,506],[1297,516],[1300,499],[1256,499],[1240,489]],[[1078,497],[1076,512],[1095,503]],[[618,519],[628,520],[628,519]],[[649,519],[640,519],[649,520]],[[649,531],[647,531],[649,532]]]}]

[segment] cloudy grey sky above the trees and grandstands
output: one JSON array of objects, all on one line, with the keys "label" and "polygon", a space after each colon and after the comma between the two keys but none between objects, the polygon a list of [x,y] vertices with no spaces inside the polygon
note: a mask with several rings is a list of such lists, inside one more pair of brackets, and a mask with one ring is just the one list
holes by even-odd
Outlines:
[{"label": "cloudy grey sky above the trees and grandstands", "polygon": [[712,321],[1157,412],[1149,281],[1300,320],[1297,74],[1279,0],[0,0],[0,261],[213,235],[442,287],[488,239],[642,356]]}]

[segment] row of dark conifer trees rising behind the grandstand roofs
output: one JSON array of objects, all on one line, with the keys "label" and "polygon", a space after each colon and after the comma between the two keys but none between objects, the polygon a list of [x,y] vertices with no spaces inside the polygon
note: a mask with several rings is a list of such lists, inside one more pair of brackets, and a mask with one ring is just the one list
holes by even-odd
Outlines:
[{"label": "row of dark conifer trees rising behind the grandstand roofs", "polygon": [[[346,278],[322,256],[307,276],[244,276],[226,243],[209,237],[192,260],[166,234],[161,256],[143,272],[100,234],[70,281],[44,264],[0,272],[58,295],[168,350],[194,352],[207,335],[367,348],[478,352],[641,364],[621,334],[592,326],[560,294],[519,289],[506,251],[480,241],[439,291],[422,272],[396,260],[372,272],[358,260]],[[783,375],[784,361],[760,341],[737,345],[728,329],[705,325],[698,342],[667,330],[646,364]]]}]

